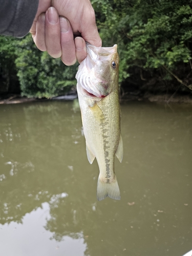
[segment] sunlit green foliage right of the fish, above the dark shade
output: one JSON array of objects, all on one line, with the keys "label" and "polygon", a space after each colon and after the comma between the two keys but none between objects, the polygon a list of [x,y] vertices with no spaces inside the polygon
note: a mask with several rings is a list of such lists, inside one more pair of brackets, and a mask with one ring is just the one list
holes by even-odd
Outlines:
[{"label": "sunlit green foliage right of the fish, above the dark shade", "polygon": [[103,45],[118,44],[120,82],[127,77],[140,76],[139,70],[150,77],[153,70],[163,68],[163,79],[170,79],[167,73],[174,79],[174,74],[178,74],[182,66],[185,74],[182,69],[181,79],[189,75],[191,0],[93,0],[92,4]]}]

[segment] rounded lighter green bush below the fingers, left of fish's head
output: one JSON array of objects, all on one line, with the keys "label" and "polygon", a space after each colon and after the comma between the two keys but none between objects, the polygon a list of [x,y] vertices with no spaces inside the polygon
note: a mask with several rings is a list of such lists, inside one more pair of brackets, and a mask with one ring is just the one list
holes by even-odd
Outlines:
[{"label": "rounded lighter green bush below the fingers, left of fish's head", "polygon": [[67,67],[60,59],[50,57],[47,52],[40,52],[31,35],[19,42],[17,53],[15,63],[22,95],[51,98],[75,86],[77,65]]}]

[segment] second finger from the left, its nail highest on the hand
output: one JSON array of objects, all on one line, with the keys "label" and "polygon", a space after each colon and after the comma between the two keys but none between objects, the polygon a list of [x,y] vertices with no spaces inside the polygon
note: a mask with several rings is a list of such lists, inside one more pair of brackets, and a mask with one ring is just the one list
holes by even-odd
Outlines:
[{"label": "second finger from the left, its nail highest on the hand", "polygon": [[58,58],[62,55],[59,16],[56,9],[53,7],[47,10],[45,16],[45,44],[48,53],[53,58]]}]

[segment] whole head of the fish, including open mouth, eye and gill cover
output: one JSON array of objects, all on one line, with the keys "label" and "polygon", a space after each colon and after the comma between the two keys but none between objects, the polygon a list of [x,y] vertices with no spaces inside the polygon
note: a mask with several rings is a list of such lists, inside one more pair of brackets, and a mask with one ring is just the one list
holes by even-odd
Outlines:
[{"label": "whole head of the fish, including open mouth, eye and gill cover", "polygon": [[118,87],[119,56],[117,45],[95,47],[87,43],[87,57],[80,65],[77,81],[87,96],[103,98]]}]

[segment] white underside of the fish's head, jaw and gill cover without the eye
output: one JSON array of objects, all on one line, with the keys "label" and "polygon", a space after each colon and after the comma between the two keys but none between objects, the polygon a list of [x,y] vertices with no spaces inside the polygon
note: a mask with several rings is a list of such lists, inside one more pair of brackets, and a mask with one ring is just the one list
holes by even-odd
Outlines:
[{"label": "white underside of the fish's head, jaw and gill cover without the eye", "polygon": [[112,54],[117,52],[117,45],[104,48],[92,46],[87,42],[86,45],[87,58],[83,60],[83,65],[79,66],[76,79],[84,95],[102,99],[111,93],[111,77],[108,75],[108,69]]}]

